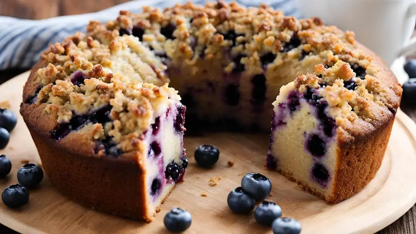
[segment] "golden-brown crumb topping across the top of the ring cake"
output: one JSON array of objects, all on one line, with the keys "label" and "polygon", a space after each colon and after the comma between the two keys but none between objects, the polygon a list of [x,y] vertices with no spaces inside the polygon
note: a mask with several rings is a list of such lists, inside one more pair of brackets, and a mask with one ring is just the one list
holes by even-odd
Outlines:
[{"label": "golden-brown crumb topping across the top of the ring cake", "polygon": [[[180,100],[166,85],[169,66],[219,60],[225,61],[225,73],[255,75],[308,57],[319,57],[322,64],[294,84],[297,89],[324,84],[322,95],[339,126],[358,133],[351,127],[355,120],[374,129],[379,119],[394,115],[401,87],[384,62],[354,40],[353,32],[323,25],[319,18],[297,20],[265,4],[244,8],[222,0],[164,10],[143,7],[139,14],[121,11],[106,24],[89,22],[86,34],[78,32],[42,54],[24,100],[46,104],[44,112],[56,115],[59,124],[111,106],[109,124],[85,128],[94,129],[94,139],[114,137],[121,147],[133,133],[139,139],[154,119],[152,113]],[[352,80],[354,90],[344,89]],[[133,145],[130,141],[122,148],[129,151]]]}]

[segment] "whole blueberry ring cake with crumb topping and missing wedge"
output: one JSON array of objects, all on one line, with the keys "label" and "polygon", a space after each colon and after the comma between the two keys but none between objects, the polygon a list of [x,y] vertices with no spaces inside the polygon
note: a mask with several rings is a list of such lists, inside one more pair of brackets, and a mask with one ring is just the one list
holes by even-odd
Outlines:
[{"label": "whole blueberry ring cake with crumb topping and missing wedge", "polygon": [[188,164],[185,127],[272,118],[267,168],[338,202],[374,177],[400,97],[353,32],[219,0],[91,21],[43,53],[21,113],[62,193],[151,221]]}]

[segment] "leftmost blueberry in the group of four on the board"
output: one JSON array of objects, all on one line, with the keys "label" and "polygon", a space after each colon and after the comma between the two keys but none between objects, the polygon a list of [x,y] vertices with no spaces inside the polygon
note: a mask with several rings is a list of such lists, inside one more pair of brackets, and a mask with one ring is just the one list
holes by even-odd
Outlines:
[{"label": "leftmost blueberry in the group of four on the board", "polygon": [[242,187],[237,187],[228,194],[227,204],[234,213],[248,214],[254,209],[255,200]]}]

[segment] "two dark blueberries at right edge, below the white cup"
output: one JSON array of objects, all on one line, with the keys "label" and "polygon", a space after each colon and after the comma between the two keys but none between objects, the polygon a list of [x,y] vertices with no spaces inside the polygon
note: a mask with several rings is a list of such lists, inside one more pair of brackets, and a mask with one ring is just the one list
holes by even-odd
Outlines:
[{"label": "two dark blueberries at right edge, below the white cup", "polygon": [[416,59],[409,60],[404,65],[404,70],[409,75],[409,81],[403,84],[401,102],[406,105],[416,104]]}]

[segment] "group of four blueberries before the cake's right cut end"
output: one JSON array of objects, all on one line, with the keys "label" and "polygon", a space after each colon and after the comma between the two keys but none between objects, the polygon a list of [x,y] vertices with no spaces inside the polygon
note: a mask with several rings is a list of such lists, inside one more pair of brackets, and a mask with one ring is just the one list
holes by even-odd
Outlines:
[{"label": "group of four blueberries before the cake's right cut end", "polygon": [[250,214],[255,202],[262,201],[254,210],[256,222],[271,226],[274,234],[299,234],[299,221],[289,217],[282,218],[282,208],[274,202],[264,200],[271,190],[270,179],[260,173],[248,173],[241,179],[241,186],[228,194],[228,207],[234,213]]}]

